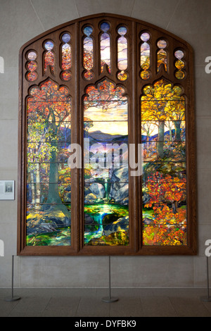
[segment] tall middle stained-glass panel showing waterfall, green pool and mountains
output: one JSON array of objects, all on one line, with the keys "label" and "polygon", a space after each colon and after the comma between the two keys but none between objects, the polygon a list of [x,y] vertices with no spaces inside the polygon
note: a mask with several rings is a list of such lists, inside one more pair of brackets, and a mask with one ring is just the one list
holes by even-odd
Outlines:
[{"label": "tall middle stained-glass panel showing waterfall, green pool and mountains", "polygon": [[[127,99],[103,80],[84,97],[84,244],[129,244]],[[123,120],[122,120],[123,119]]]}]

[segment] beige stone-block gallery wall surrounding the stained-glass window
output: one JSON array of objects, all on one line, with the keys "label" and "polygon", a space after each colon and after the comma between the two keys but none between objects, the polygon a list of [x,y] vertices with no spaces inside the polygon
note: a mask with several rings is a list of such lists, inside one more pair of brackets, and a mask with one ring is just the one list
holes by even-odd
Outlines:
[{"label": "beige stone-block gallery wall surrounding the stained-glass window", "polygon": [[[0,180],[18,178],[18,52],[41,32],[84,15],[117,13],[153,23],[195,52],[198,165],[198,255],[115,256],[114,287],[205,287],[205,240],[211,239],[210,0],[0,0]],[[211,68],[211,67],[210,67]],[[17,187],[15,188],[17,193]],[[0,201],[0,287],[11,286],[16,254],[17,199]],[[107,287],[108,257],[15,256],[15,287]]]}]

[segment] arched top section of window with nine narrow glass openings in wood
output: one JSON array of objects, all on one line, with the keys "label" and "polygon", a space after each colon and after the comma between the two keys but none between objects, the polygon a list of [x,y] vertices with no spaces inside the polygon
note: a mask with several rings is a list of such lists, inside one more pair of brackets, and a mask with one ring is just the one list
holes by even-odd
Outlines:
[{"label": "arched top section of window with nine narrow glass openings in wood", "polygon": [[[36,54],[37,49],[40,49],[39,56],[29,58],[28,54]],[[139,61],[133,58],[129,49],[139,54]],[[77,59],[75,52],[78,52]],[[75,74],[72,63],[79,60],[77,70],[85,81],[96,81],[105,73],[119,82],[124,81],[132,75],[131,69],[135,65],[142,81],[163,75],[185,84],[188,78],[186,65],[190,73],[192,52],[187,42],[160,27],[102,13],[70,21],[27,42],[20,49],[23,61],[20,70],[31,83],[48,76],[58,80],[60,75],[62,84],[71,80]]]}]

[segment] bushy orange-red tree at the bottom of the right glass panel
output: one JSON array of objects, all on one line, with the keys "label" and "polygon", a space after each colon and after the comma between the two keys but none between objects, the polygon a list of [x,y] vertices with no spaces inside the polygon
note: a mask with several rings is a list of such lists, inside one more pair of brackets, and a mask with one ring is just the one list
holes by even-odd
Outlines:
[{"label": "bushy orange-red tree at the bottom of the right glass panel", "polygon": [[[181,244],[186,239],[186,208],[179,204],[186,200],[186,180],[155,173],[146,182],[149,199],[144,207],[153,208],[153,226],[146,235],[151,237],[151,230],[156,232],[155,242],[162,244]],[[155,231],[155,228],[157,229]]]}]

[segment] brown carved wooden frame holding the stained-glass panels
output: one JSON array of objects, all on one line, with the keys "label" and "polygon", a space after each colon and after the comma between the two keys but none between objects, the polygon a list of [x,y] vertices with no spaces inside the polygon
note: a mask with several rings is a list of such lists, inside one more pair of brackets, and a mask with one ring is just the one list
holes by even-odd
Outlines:
[{"label": "brown carved wooden frame holding the stained-glass panels", "polygon": [[[129,78],[124,82],[117,79],[117,57],[115,51],[111,52],[111,73],[108,73],[104,66],[103,73],[100,68],[99,51],[99,23],[108,21],[110,23],[110,42],[114,49],[117,44],[117,27],[124,25],[127,27],[128,44],[128,67]],[[94,27],[92,37],[94,39],[94,78],[87,81],[82,78],[84,68],[82,67],[82,39],[84,34],[82,27],[91,25]],[[151,45],[151,77],[148,80],[140,78],[140,46],[141,32],[148,32],[151,35],[149,44]],[[63,32],[69,32],[72,45],[72,79],[65,82],[60,77],[61,58],[60,45],[62,44],[60,36]],[[53,51],[56,54],[56,73],[52,75],[51,70],[47,68],[43,71],[43,53],[44,41],[52,39],[54,41]],[[157,72],[156,65],[156,42],[158,39],[167,40],[168,70],[165,71],[163,65]],[[178,80],[174,76],[174,51],[182,49],[185,54],[186,75],[183,80]],[[26,79],[27,59],[26,54],[30,50],[37,51],[37,75],[34,82]],[[186,246],[144,246],[141,240],[141,177],[129,176],[129,216],[131,219],[129,233],[129,246],[84,246],[84,209],[83,209],[83,170],[71,169],[72,178],[72,245],[71,246],[27,246],[26,245],[26,102],[30,87],[41,85],[49,78],[56,82],[58,87],[65,85],[70,90],[73,98],[72,107],[72,142],[83,144],[83,113],[82,97],[88,85],[96,85],[97,82],[107,77],[115,85],[122,85],[125,88],[129,103],[129,143],[141,143],[141,91],[144,85],[152,85],[156,80],[163,78],[169,81],[172,86],[182,87],[184,96],[186,96],[186,171],[187,171],[187,213],[188,213],[188,231]],[[194,113],[194,77],[193,77],[193,49],[191,46],[172,35],[172,33],[162,30],[160,27],[145,23],[141,20],[125,17],[122,15],[113,15],[101,13],[89,15],[84,18],[72,20],[63,25],[59,25],[49,31],[46,31],[30,40],[22,46],[19,54],[19,136],[18,136],[18,255],[34,256],[89,256],[89,255],[196,255],[197,254],[197,231],[196,231],[196,130]]]}]

